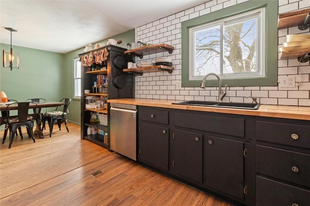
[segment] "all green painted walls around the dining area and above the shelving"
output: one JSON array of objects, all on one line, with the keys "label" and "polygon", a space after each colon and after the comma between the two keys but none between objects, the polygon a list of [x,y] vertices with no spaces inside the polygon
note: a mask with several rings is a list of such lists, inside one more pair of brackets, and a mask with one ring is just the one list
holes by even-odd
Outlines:
[{"label": "all green painted walls around the dining area and above the shelving", "polygon": [[[109,37],[96,43],[106,44],[108,39],[123,40],[118,46],[126,48],[127,43],[135,42],[135,29]],[[93,43],[95,44],[95,43]],[[1,58],[0,91],[4,91],[9,99],[25,101],[29,98],[44,98],[47,101],[59,101],[71,98],[68,120],[80,123],[80,99],[74,96],[74,59],[84,52],[84,48],[67,54],[48,52],[12,45],[19,53],[19,69],[3,68]],[[0,44],[0,51],[9,50],[9,44]],[[49,108],[48,110],[52,110]],[[0,129],[3,129],[1,126]]]}]

